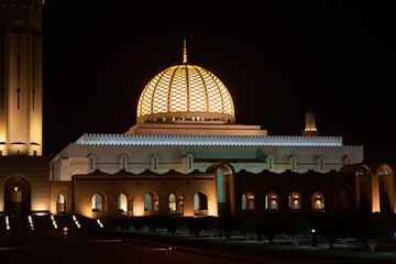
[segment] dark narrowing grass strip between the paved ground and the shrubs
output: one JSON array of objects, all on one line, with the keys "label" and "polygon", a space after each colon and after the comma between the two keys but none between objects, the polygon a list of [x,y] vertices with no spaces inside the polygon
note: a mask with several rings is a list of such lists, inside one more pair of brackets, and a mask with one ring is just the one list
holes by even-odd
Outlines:
[{"label": "dark narrowing grass strip between the paved ground and the shrubs", "polygon": [[[245,240],[220,240],[217,237],[191,237],[187,234],[167,234],[167,233],[148,233],[148,232],[111,232],[118,234],[123,239],[143,240],[151,243],[166,243],[173,246],[190,248],[198,250],[219,251],[223,253],[232,252],[234,254],[249,256],[268,256],[279,260],[297,258],[304,260],[364,260],[371,263],[377,262],[394,262],[396,260],[396,252],[363,252],[356,249],[336,248],[329,250],[328,245],[320,244],[319,246],[311,245],[292,245],[284,241],[274,241],[270,244],[268,241],[245,241]],[[351,241],[350,241],[351,242]],[[363,248],[362,248],[363,249]]]}]

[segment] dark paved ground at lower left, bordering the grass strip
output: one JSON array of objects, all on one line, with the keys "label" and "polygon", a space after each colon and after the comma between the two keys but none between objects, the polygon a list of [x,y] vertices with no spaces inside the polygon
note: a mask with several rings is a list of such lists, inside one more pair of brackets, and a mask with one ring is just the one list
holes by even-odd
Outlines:
[{"label": "dark paved ground at lower left, bordering the grass strip", "polygon": [[[227,256],[169,250],[108,234],[72,230],[0,233],[0,263],[241,263]],[[248,262],[246,262],[248,263]],[[275,262],[271,262],[275,263]]]}]

